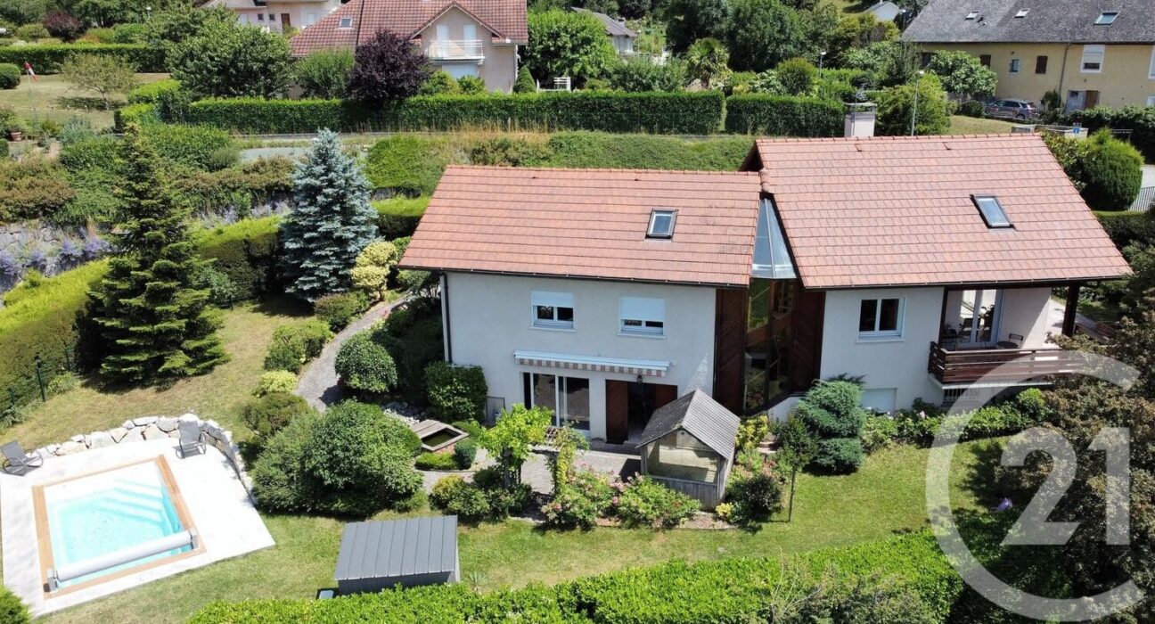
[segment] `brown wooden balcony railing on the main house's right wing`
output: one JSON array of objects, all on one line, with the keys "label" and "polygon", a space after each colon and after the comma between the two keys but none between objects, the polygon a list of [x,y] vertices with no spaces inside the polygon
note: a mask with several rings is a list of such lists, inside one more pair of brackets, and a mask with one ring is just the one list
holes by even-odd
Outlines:
[{"label": "brown wooden balcony railing on the main house's right wing", "polygon": [[942,384],[973,384],[979,380],[1015,382],[1049,376],[1074,374],[1082,365],[1081,358],[1063,349],[948,351],[932,342],[927,370]]}]

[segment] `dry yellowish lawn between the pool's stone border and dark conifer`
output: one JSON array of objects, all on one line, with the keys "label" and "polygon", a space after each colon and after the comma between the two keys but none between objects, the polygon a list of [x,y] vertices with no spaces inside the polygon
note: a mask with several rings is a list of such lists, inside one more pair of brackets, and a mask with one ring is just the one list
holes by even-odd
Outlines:
[{"label": "dry yellowish lawn between the pool's stone border and dark conifer", "polygon": [[248,431],[240,422],[240,407],[252,398],[263,372],[273,330],[303,313],[289,299],[226,310],[221,337],[230,361],[213,372],[167,387],[120,392],[82,382],[50,398],[23,423],[7,430],[5,437],[29,448],[64,441],[76,433],[111,429],[127,418],[194,411],[246,438]]}]

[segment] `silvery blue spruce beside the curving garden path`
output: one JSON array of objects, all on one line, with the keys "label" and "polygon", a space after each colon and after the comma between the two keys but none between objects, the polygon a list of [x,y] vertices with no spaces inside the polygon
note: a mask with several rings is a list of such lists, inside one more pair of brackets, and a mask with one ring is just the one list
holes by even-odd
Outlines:
[{"label": "silvery blue spruce beside the curving garden path", "polygon": [[281,225],[285,290],[313,302],[349,288],[357,255],[377,237],[368,191],[337,134],[321,131],[293,173],[293,208]]}]

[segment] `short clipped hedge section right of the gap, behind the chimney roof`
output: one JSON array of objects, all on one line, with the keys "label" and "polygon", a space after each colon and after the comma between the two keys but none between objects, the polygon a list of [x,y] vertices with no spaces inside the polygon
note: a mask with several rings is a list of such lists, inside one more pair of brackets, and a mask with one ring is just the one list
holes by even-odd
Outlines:
[{"label": "short clipped hedge section right of the gap, behind the chimney roof", "polygon": [[726,132],[770,136],[842,136],[842,104],[765,94],[726,99]]}]

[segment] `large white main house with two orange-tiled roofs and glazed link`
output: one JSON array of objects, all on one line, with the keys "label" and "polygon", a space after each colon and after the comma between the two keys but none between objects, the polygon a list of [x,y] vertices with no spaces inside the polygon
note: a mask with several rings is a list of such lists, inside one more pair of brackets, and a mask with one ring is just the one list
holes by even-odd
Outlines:
[{"label": "large white main house with two orange-tiled roofs and glazed link", "polygon": [[839,374],[892,410],[1059,373],[1078,285],[1128,272],[1035,135],[767,140],[744,169],[450,166],[402,266],[442,273],[446,359],[491,409],[610,441],[693,389],[781,416]]}]

